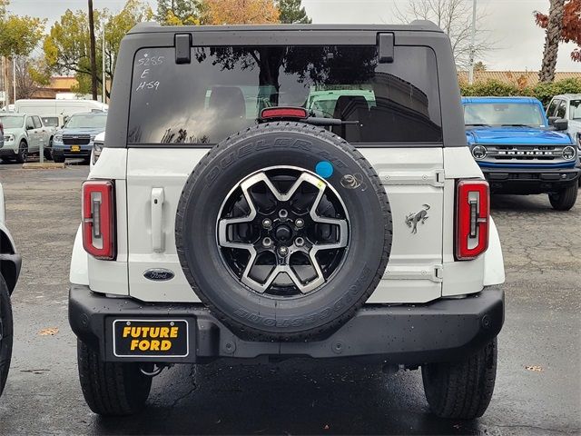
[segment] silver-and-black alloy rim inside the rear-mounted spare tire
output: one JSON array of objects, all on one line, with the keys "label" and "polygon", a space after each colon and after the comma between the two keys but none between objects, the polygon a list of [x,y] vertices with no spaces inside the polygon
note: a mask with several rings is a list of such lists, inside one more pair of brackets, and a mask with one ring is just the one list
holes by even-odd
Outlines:
[{"label": "silver-and-black alloy rim inside the rear-mounted spare tire", "polygon": [[[277,170],[281,169],[281,167],[275,168]],[[291,168],[292,167],[289,167],[289,169]],[[340,205],[337,206],[336,204],[338,203],[333,203],[335,209],[339,209],[341,212],[330,214],[330,217],[320,216],[319,213],[317,213],[317,210],[320,207],[321,201],[326,198],[326,202],[336,202],[336,200],[333,200],[332,198],[337,199],[339,197],[339,194],[334,192],[328,183],[313,173],[300,171],[299,168],[292,168],[291,171],[296,171],[296,173],[292,174],[296,174],[296,178],[294,178],[294,182],[291,183],[291,187],[285,193],[281,193],[277,179],[277,176],[280,173],[268,173],[268,171],[269,170],[254,173],[238,184],[238,188],[241,190],[242,196],[248,204],[249,213],[246,216],[232,218],[230,212],[230,216],[225,215],[224,218],[219,218],[217,223],[217,242],[221,247],[244,250],[249,253],[248,262],[245,265],[244,263],[240,264],[240,260],[232,259],[231,262],[239,265],[236,266],[236,268],[240,267],[237,272],[240,281],[249,286],[255,292],[261,294],[265,292],[269,294],[272,292],[288,292],[283,290],[288,289],[289,286],[291,286],[291,288],[296,288],[295,292],[306,294],[326,282],[323,271],[325,271],[325,274],[330,273],[328,269],[331,261],[327,260],[327,257],[329,256],[321,257],[320,263],[317,260],[317,253],[323,250],[340,249],[348,246],[349,221],[346,216],[345,205],[340,203]],[[279,210],[278,215],[277,213],[271,213],[272,211],[268,214],[262,215],[263,212],[261,211],[260,204],[254,203],[254,190],[252,188],[259,183],[264,184],[266,189],[270,192],[271,198],[273,199],[274,204],[276,204],[277,209],[275,209],[275,211]],[[303,183],[309,183],[315,188],[315,192],[313,193],[311,188],[301,189]],[[328,189],[330,189],[330,191],[327,191]],[[259,192],[263,195],[262,190]],[[293,196],[295,195],[299,195],[299,197],[293,199]],[[295,203],[295,200],[297,203],[302,204],[300,210],[304,212],[300,213],[303,214],[296,212],[296,210],[292,209],[292,206],[289,204]],[[236,201],[240,202],[241,199]],[[259,202],[258,197],[256,201]],[[341,202],[340,197],[339,202]],[[226,203],[226,201],[224,201],[224,203]],[[259,212],[259,210],[261,212]],[[287,211],[291,211],[291,213],[288,213]],[[282,212],[284,212],[284,214],[282,214]],[[307,214],[305,215],[304,213]],[[261,214],[260,220],[256,221],[259,214]],[[291,217],[287,218],[287,215],[291,215]],[[221,216],[224,216],[222,215],[222,212]],[[305,229],[303,229],[304,221],[303,223],[296,224],[295,227],[294,220],[298,220],[298,217],[306,219],[310,225],[323,225],[324,227],[330,226],[332,230],[330,231],[331,233],[328,234],[332,234],[333,236],[324,240],[321,236],[320,242],[307,239],[309,233],[305,233]],[[266,219],[268,219],[269,223],[262,224]],[[256,223],[254,223],[255,221]],[[258,226],[251,234],[256,235],[260,239],[256,241],[254,236],[248,236],[245,238],[242,235],[249,233],[246,233],[243,228],[240,234],[232,232],[232,230],[238,229],[232,229],[231,226],[236,226],[238,224]],[[280,239],[282,236],[278,233],[276,233],[276,235],[274,234],[277,230],[281,230],[282,227],[287,229],[286,232],[289,233],[288,237],[291,239]],[[256,233],[259,229],[260,233]],[[315,232],[319,231],[318,229],[314,230]],[[307,230],[307,232],[309,231]],[[264,267],[267,265],[262,261],[259,261],[259,259],[262,259],[261,252],[263,251],[263,248],[267,246],[262,243],[262,240],[266,239],[271,239],[274,242],[274,245],[269,251],[273,253],[276,259],[274,264],[269,264],[269,270],[265,270]],[[295,243],[295,240],[301,241],[300,243]],[[268,246],[270,247],[271,243],[269,243]],[[286,254],[279,253],[278,250],[281,250],[284,246],[286,246]],[[291,259],[293,253],[302,253],[304,260],[295,262],[294,259]],[[338,253],[339,254],[337,255],[344,255],[340,252]],[[335,256],[335,254],[331,253],[330,256]],[[254,268],[258,268],[258,270],[253,270]],[[307,275],[304,275],[303,272],[307,271],[310,272],[308,272]],[[286,274],[287,278],[284,280],[278,280],[281,274]],[[266,277],[264,278],[265,275]],[[281,291],[277,291],[279,289],[281,289]],[[283,293],[283,295],[286,294]]]}]

